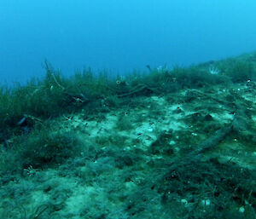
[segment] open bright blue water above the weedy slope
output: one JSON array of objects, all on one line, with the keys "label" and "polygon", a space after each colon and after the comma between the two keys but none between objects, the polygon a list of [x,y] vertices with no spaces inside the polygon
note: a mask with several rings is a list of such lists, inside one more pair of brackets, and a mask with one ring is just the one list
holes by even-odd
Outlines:
[{"label": "open bright blue water above the weedy slope", "polygon": [[90,66],[124,74],[256,49],[255,0],[1,0],[0,84]]}]

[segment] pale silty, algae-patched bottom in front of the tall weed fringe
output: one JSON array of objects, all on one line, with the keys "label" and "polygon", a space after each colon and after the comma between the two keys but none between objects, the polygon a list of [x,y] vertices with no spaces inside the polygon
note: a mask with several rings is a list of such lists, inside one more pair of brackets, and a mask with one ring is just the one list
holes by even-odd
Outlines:
[{"label": "pale silty, algae-patched bottom in front of the tall weed fringe", "polygon": [[[127,95],[94,116],[84,108],[49,118],[47,135],[72,133],[79,153],[2,173],[0,218],[255,219],[255,112],[247,80]],[[27,132],[20,147],[37,138]]]}]

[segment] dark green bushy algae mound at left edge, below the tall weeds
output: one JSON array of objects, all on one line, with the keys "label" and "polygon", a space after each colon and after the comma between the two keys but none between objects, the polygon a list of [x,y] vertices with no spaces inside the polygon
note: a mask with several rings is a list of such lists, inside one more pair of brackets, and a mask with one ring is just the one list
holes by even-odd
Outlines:
[{"label": "dark green bushy algae mound at left edge, below the tall weeds", "polygon": [[11,173],[28,168],[44,169],[62,164],[81,152],[82,142],[73,131],[50,127],[32,130],[16,137],[1,153],[0,173]]}]

